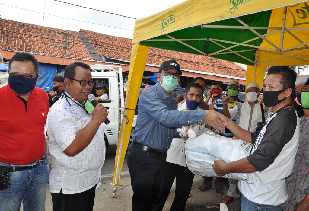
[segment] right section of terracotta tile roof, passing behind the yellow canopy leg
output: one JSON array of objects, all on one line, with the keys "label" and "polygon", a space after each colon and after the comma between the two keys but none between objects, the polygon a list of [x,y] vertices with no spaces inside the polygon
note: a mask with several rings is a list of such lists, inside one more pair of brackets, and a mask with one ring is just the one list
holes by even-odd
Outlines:
[{"label": "right section of terracotta tile roof, passing behind the yellow canopy leg", "polygon": [[[97,54],[104,57],[130,60],[132,40],[81,29]],[[183,69],[198,70],[222,75],[246,78],[246,71],[231,61],[204,55],[150,48],[147,63],[160,65],[165,60],[175,59]]]}]

